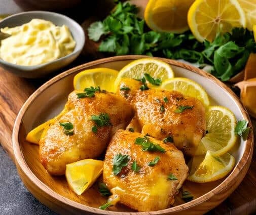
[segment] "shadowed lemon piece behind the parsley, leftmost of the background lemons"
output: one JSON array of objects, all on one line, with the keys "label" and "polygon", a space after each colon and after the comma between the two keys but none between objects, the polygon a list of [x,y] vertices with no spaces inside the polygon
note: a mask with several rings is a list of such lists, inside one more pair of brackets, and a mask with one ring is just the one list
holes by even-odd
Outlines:
[{"label": "shadowed lemon piece behind the parsley, leftmost of the background lemons", "polygon": [[182,33],[189,29],[187,14],[194,0],[150,0],[144,19],[159,32]]}]

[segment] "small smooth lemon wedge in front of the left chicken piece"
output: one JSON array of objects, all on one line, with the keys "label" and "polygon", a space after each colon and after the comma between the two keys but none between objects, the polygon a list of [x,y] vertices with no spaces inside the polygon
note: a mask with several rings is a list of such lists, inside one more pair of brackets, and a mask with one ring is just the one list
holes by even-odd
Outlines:
[{"label": "small smooth lemon wedge in front of the left chicken piece", "polygon": [[103,161],[94,159],[80,160],[66,165],[66,180],[78,195],[89,189],[101,175]]}]

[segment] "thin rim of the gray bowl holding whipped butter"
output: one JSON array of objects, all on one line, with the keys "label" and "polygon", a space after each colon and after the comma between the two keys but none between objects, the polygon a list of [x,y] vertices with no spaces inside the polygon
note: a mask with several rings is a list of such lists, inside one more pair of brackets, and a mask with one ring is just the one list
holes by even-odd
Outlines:
[{"label": "thin rim of the gray bowl holding whipped butter", "polygon": [[[56,63],[56,62],[62,61],[63,59],[69,58],[72,55],[76,55],[77,53],[80,53],[82,51],[82,49],[84,48],[84,45],[85,45],[85,33],[84,33],[84,30],[83,30],[82,26],[80,24],[78,24],[78,22],[76,22],[74,19],[71,19],[68,16],[60,14],[60,13],[55,13],[55,12],[50,12],[50,11],[27,11],[27,12],[21,12],[21,13],[13,14],[11,16],[8,16],[8,17],[2,19],[0,21],[0,24],[5,22],[8,19],[11,19],[11,18],[16,17],[16,16],[23,15],[23,14],[50,14],[50,15],[58,16],[61,19],[68,20],[69,22],[73,23],[76,26],[76,28],[79,29],[79,31],[82,32],[82,38],[81,38],[81,41],[82,41],[81,44],[82,45],[81,45],[81,47],[78,47],[77,51],[73,51],[73,52],[71,52],[70,54],[68,54],[68,55],[66,55],[64,57],[61,57],[61,58],[58,58],[56,60],[49,61],[49,62],[46,62],[46,63],[43,63],[43,64],[39,64],[39,65],[34,65],[34,66],[17,65],[17,64],[10,63],[10,62],[5,61],[5,60],[0,58],[0,63],[1,64],[8,65],[9,67],[14,67],[16,69],[20,69],[20,70],[23,70],[23,71],[31,71],[31,70],[35,70],[35,69],[40,69],[40,68],[45,67],[47,65],[50,65],[52,63]],[[71,33],[73,33],[73,32],[71,32]]]}]

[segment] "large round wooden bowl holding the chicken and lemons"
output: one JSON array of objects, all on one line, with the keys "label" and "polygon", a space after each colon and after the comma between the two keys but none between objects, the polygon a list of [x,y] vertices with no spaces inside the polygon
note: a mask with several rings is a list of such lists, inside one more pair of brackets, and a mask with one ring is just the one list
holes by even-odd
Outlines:
[{"label": "large round wooden bowl holding the chicken and lemons", "polygon": [[[137,213],[118,204],[115,211],[100,210],[106,202],[98,192],[97,183],[87,192],[77,196],[66,183],[65,177],[50,176],[39,161],[39,147],[25,141],[26,134],[36,125],[55,116],[63,108],[68,94],[73,90],[72,79],[78,72],[95,67],[121,69],[132,60],[144,56],[120,56],[105,58],[72,68],[52,78],[35,91],[21,108],[13,130],[13,149],[16,166],[27,189],[39,201],[60,214],[203,214],[224,201],[243,180],[252,157],[253,134],[247,141],[242,139],[232,154],[236,165],[228,177],[211,183],[197,184],[186,181],[184,189],[194,195],[194,200],[185,203],[180,195],[173,207],[152,212]],[[169,63],[176,76],[191,78],[201,84],[211,97],[211,104],[231,109],[238,120],[250,118],[235,94],[212,75],[177,61],[162,59]],[[101,180],[101,179],[99,179]],[[122,211],[122,212],[120,212]]]}]

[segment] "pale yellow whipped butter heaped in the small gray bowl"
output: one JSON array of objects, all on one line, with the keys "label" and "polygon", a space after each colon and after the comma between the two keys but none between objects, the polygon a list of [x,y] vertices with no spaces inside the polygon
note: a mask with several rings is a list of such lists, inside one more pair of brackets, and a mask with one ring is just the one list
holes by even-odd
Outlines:
[{"label": "pale yellow whipped butter heaped in the small gray bowl", "polygon": [[1,31],[11,36],[1,41],[0,57],[13,64],[33,66],[47,63],[70,54],[76,47],[67,26],[56,26],[43,19],[32,19]]}]

